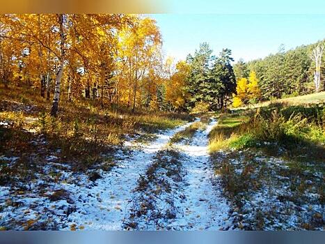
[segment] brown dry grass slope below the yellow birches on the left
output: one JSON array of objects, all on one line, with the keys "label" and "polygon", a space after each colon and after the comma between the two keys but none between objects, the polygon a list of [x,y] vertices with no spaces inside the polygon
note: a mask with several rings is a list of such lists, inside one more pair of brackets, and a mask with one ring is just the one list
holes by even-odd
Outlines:
[{"label": "brown dry grass slope below the yellow birches on the left", "polygon": [[[47,162],[47,155],[56,155],[59,162],[69,163],[77,171],[102,162],[109,162],[109,168],[113,165],[114,146],[120,146],[126,136],[148,141],[159,130],[194,119],[188,114],[131,113],[123,107],[116,116],[109,105],[102,108],[96,100],[84,98],[68,102],[65,96],[58,117],[53,118],[48,114],[51,101],[41,98],[31,87],[6,88],[0,84],[0,97],[0,155],[27,157],[26,161],[37,160],[40,165]],[[8,173],[8,168],[0,166],[3,184],[5,170]],[[13,169],[12,174],[15,172]]]}]

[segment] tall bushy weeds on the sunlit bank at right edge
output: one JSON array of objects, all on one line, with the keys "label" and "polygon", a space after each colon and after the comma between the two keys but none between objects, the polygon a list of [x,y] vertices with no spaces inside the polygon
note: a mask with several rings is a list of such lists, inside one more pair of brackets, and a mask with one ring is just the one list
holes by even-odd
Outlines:
[{"label": "tall bushy weeds on the sunlit bank at right edge", "polygon": [[248,127],[257,139],[264,141],[324,142],[323,111],[318,106],[257,109]]}]

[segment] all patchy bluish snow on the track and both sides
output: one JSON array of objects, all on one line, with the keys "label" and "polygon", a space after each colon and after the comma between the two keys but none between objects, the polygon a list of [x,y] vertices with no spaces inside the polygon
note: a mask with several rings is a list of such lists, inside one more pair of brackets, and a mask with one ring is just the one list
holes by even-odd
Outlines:
[{"label": "all patchy bluish snow on the track and both sides", "polygon": [[[26,229],[26,222],[35,220],[34,229],[125,229],[132,209],[141,204],[141,197],[157,197],[152,196],[151,192],[136,191],[139,179],[145,176],[158,153],[162,152],[161,160],[173,160],[171,155],[164,154],[168,141],[190,124],[159,132],[157,139],[150,144],[141,144],[127,137],[125,144],[116,149],[116,166],[110,171],[90,169],[86,173],[75,172],[69,164],[59,163],[55,153],[47,155],[42,171],[35,172],[35,179],[27,185],[17,182],[10,187],[0,186],[0,227]],[[248,191],[240,200],[243,205],[241,209],[232,209],[233,203],[228,203],[228,198],[225,198],[221,176],[214,175],[214,166],[209,159],[207,137],[215,124],[216,120],[212,119],[205,130],[196,132],[189,144],[178,143],[173,148],[181,155],[182,163],[169,167],[178,171],[180,181],[169,177],[168,170],[164,168],[156,171],[161,182],[171,185],[171,191],[162,192],[159,199],[154,199],[155,207],[158,213],[169,212],[172,217],[164,216],[157,221],[150,220],[148,216],[136,218],[137,229],[250,229],[255,227],[257,213],[265,215],[262,217],[264,229],[270,230],[301,229],[301,223],[324,221],[324,204],[319,201],[322,195],[313,186],[324,178],[322,172],[304,171],[312,180],[301,179],[310,187],[296,199],[294,191],[290,189],[292,177],[279,174],[279,171],[290,169],[287,161],[261,154],[254,155],[258,165],[251,178],[257,176],[262,165],[267,167],[268,177],[262,181],[260,188]],[[241,159],[244,160],[245,152],[236,153],[238,158],[232,158],[229,162],[235,168],[235,174],[240,175],[244,169]],[[17,159],[0,156],[0,160],[8,161],[7,165],[15,163]],[[101,178],[90,181],[88,174],[92,171],[100,174]],[[271,178],[276,180],[271,181]],[[156,185],[150,186],[154,188],[150,190],[155,190]],[[50,197],[57,190],[65,190],[66,194],[51,201]],[[306,200],[302,201],[303,198]]]}]

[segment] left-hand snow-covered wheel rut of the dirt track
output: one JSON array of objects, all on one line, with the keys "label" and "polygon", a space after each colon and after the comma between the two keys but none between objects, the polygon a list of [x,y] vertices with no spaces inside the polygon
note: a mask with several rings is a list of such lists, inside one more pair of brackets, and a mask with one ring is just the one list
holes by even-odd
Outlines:
[{"label": "left-hand snow-covered wheel rut of the dirt track", "polygon": [[139,175],[145,174],[154,155],[169,139],[191,123],[193,122],[157,135],[154,142],[149,145],[142,144],[140,149],[134,149],[134,144],[127,143],[125,146],[133,150],[132,156],[125,158],[120,151],[118,156],[122,160],[118,162],[118,166],[109,172],[102,172],[102,178],[91,187],[86,184],[85,177],[80,178],[80,185],[65,185],[66,190],[73,192],[72,198],[77,206],[77,211],[70,213],[65,229],[70,229],[71,224],[83,226],[84,229],[122,229],[122,222],[129,211]]}]

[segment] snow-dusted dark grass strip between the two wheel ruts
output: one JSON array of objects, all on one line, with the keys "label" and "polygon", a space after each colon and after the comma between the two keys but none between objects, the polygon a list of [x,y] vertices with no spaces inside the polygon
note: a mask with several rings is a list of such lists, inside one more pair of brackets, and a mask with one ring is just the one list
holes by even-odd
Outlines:
[{"label": "snow-dusted dark grass strip between the two wheel ruts", "polygon": [[[173,199],[179,197],[179,194],[176,196],[175,187],[183,177],[180,151],[172,146],[160,150],[145,175],[140,176],[138,180],[136,191],[141,194],[134,201],[136,204],[132,208],[130,218],[124,223],[125,229],[138,229],[138,219],[145,219],[148,223],[154,222],[159,227],[159,220],[175,218]],[[159,204],[161,201],[164,204]]]}]

